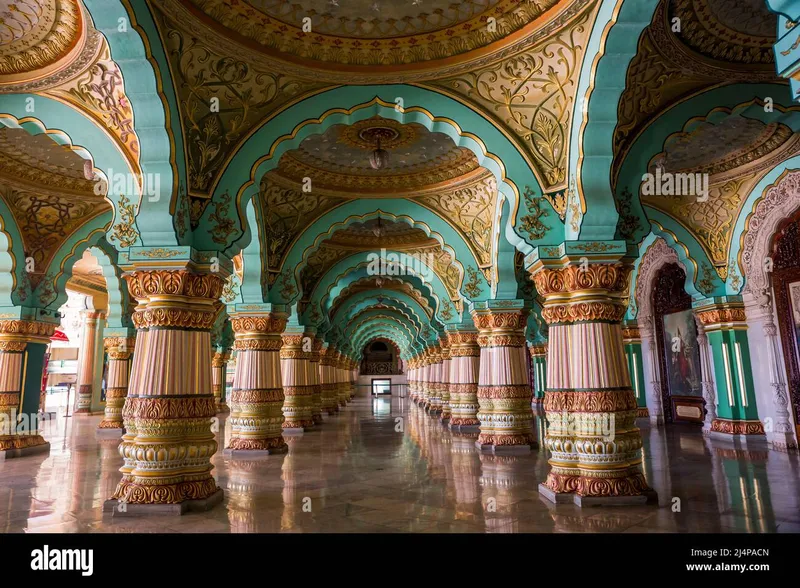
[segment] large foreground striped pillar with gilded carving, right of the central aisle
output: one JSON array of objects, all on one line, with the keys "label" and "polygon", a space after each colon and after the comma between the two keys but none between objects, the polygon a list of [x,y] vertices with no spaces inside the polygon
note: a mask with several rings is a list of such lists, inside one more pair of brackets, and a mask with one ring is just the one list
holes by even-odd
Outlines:
[{"label": "large foreground striped pillar with gilded carving, right of the central aisle", "polygon": [[539,492],[553,502],[626,505],[654,497],[642,472],[620,324],[631,269],[627,259],[587,264],[583,255],[540,258],[531,268],[550,325],[544,408],[551,470]]}]

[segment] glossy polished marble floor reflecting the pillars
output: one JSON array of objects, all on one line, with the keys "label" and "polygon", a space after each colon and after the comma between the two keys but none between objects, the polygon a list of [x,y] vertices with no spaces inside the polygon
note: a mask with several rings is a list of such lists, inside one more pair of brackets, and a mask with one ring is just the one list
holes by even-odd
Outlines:
[{"label": "glossy polished marble floor reflecting the pillars", "polygon": [[[49,427],[49,456],[0,461],[0,532],[800,532],[800,457],[740,450],[696,428],[641,421],[659,505],[555,506],[544,449],[496,457],[404,398],[357,398],[286,455],[218,453],[225,501],[182,517],[103,515],[121,465],[100,417]],[[543,437],[542,418],[537,418]],[[55,430],[53,430],[55,429]],[[225,421],[219,425],[221,440]]]}]

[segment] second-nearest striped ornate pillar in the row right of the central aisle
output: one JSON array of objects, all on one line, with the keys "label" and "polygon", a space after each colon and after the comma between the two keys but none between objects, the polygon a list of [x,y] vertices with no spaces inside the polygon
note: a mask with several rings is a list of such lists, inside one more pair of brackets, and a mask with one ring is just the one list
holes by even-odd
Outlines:
[{"label": "second-nearest striped ornate pillar in the row right of the central aisle", "polygon": [[477,303],[472,320],[480,335],[476,445],[492,453],[525,453],[536,447],[531,385],[525,354],[528,310],[521,300]]}]

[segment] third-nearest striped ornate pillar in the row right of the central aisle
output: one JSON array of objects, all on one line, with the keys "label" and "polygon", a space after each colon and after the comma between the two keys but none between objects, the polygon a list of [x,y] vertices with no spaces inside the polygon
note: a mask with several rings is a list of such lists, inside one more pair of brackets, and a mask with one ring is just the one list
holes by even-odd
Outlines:
[{"label": "third-nearest striped ornate pillar in the row right of the central aisle", "polygon": [[480,430],[478,420],[478,374],[481,349],[478,333],[455,330],[450,342],[450,428],[460,432]]}]

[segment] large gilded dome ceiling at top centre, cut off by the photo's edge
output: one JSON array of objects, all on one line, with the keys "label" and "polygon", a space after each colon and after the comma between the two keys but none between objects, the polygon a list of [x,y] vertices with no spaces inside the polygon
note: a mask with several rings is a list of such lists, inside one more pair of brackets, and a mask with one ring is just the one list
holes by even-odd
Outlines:
[{"label": "large gilded dome ceiling at top centre, cut off by the photo's edge", "polygon": [[[528,25],[535,27],[537,19],[559,4],[558,0],[181,1],[219,32],[258,51],[307,66],[346,69],[407,67],[468,55]],[[496,27],[487,26],[489,18],[495,19]]]}]

